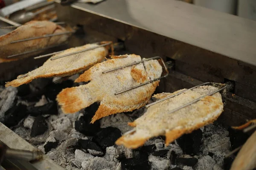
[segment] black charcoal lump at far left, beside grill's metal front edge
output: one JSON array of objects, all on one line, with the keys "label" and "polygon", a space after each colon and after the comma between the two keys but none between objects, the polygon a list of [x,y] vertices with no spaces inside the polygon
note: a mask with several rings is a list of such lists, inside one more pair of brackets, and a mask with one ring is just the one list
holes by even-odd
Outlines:
[{"label": "black charcoal lump at far left, beside grill's metal front edge", "polygon": [[12,108],[9,108],[4,115],[4,124],[7,127],[17,125],[23,118],[28,115],[26,105],[15,104]]}]

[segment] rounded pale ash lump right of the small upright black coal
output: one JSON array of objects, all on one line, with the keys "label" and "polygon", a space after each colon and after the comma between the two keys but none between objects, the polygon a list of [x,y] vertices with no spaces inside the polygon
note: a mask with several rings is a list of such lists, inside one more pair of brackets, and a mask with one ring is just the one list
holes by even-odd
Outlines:
[{"label": "rounded pale ash lump right of the small upright black coal", "polygon": [[67,130],[71,130],[72,128],[72,123],[70,122],[70,119],[67,116],[64,116],[56,119],[55,121],[52,121],[51,125],[54,130],[60,130],[60,131],[67,131]]}]

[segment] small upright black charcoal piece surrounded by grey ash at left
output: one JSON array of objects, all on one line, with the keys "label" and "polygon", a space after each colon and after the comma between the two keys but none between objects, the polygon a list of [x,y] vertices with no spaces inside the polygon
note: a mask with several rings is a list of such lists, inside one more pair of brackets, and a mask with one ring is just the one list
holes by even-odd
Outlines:
[{"label": "small upright black charcoal piece surrounded by grey ash at left", "polygon": [[37,116],[35,118],[35,121],[33,122],[32,128],[31,128],[31,137],[35,137],[38,135],[44,134],[48,130],[48,125],[46,122],[46,118],[43,116]]}]

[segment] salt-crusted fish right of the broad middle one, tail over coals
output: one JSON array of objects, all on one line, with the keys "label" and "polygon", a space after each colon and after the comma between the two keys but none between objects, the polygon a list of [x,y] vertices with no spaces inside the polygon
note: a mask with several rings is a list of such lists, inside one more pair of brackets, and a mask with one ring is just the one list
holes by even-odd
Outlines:
[{"label": "salt-crusted fish right of the broad middle one, tail over coals", "polygon": [[[183,90],[172,94],[156,94],[154,97],[162,99]],[[206,96],[173,113],[170,111],[215,90],[217,88],[213,86],[200,86],[150,106],[143,116],[129,123],[134,127],[134,132],[123,135],[116,141],[116,144],[137,148],[142,146],[146,140],[160,135],[165,135],[166,144],[169,144],[185,133],[191,133],[193,130],[212,123],[223,111],[223,102],[219,93]]]}]

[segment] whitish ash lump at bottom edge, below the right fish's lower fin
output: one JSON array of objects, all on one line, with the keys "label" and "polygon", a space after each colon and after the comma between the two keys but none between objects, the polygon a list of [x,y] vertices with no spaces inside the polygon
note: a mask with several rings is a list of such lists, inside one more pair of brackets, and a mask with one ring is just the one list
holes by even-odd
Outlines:
[{"label": "whitish ash lump at bottom edge, below the right fish's lower fin", "polygon": [[167,170],[170,167],[170,161],[161,157],[149,155],[148,161],[151,163],[151,170]]}]

